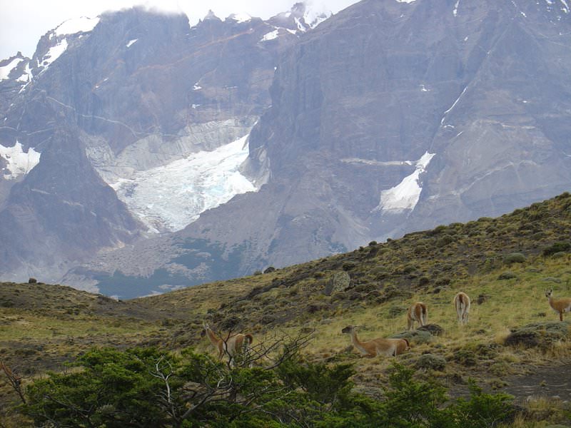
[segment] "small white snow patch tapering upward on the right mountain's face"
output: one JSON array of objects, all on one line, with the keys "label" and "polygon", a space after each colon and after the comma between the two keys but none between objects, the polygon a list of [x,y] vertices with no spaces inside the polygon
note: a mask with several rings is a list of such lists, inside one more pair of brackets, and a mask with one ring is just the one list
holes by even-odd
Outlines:
[{"label": "small white snow patch tapering upward on the right mountain's face", "polygon": [[415,171],[407,175],[395,187],[383,190],[380,193],[380,203],[375,210],[401,213],[404,210],[413,210],[418,203],[420,193],[423,191],[420,183],[420,174],[425,172],[435,153],[428,151],[415,162]]}]

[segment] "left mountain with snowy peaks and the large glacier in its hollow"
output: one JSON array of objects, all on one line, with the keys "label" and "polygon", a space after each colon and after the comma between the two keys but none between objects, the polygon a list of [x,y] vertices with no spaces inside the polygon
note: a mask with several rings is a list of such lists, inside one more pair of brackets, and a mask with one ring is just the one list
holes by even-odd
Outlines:
[{"label": "left mountain with snowy peaks and the large glacier in its hollow", "polygon": [[[134,8],[65,21],[32,58],[0,61],[0,277],[59,279],[256,190],[237,170],[243,137],[271,103],[278,56],[310,28],[304,14],[191,27]],[[198,183],[181,183],[188,171]]]}]

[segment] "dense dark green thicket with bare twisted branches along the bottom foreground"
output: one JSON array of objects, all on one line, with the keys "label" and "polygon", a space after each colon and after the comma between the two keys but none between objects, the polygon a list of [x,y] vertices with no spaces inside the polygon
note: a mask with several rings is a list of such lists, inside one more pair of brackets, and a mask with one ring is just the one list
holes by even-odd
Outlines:
[{"label": "dense dark green thicket with bare twisted branches along the bottom foreground", "polygon": [[275,367],[254,368],[230,368],[191,350],[176,356],[154,348],[94,349],[79,358],[83,370],[34,379],[21,409],[34,426],[108,428],[205,421],[208,427],[480,428],[510,416],[506,394],[482,394],[473,385],[469,400],[449,402],[443,386],[396,364],[378,401],[353,391],[351,365],[305,362],[292,349],[285,346]]}]

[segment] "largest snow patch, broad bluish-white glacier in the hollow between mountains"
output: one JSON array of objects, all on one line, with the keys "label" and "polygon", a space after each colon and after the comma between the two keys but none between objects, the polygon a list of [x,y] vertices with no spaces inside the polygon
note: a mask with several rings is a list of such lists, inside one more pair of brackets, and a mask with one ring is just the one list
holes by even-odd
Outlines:
[{"label": "largest snow patch, broad bluish-white glacier in the hollow between mountains", "polygon": [[168,165],[135,171],[130,178],[110,185],[151,232],[181,230],[204,211],[257,190],[238,170],[248,157],[247,138]]}]

